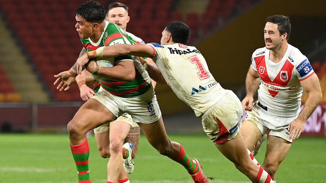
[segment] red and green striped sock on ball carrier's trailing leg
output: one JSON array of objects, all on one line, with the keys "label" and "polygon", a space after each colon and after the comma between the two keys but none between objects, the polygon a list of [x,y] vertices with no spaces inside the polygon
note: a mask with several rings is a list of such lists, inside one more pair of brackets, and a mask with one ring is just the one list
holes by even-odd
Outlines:
[{"label": "red and green striped sock on ball carrier's trailing leg", "polygon": [[180,144],[180,152],[178,156],[174,158],[171,157],[169,158],[172,159],[173,161],[182,164],[182,166],[185,167],[185,169],[188,171],[190,175],[196,174],[199,170],[198,165],[189,158],[189,156],[187,155],[187,153],[185,153],[185,149],[182,147],[181,144]]}]

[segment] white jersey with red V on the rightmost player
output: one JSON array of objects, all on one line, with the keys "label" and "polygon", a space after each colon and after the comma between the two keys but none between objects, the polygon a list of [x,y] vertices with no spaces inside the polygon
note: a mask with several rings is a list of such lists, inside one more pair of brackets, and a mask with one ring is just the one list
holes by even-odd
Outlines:
[{"label": "white jersey with red V on the rightmost player", "polygon": [[269,53],[266,47],[259,48],[251,57],[251,66],[260,77],[258,100],[273,115],[296,116],[301,110],[300,81],[315,72],[307,57],[290,44],[279,63],[269,60]]}]

